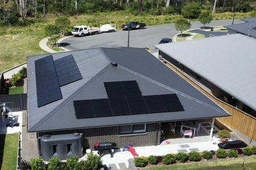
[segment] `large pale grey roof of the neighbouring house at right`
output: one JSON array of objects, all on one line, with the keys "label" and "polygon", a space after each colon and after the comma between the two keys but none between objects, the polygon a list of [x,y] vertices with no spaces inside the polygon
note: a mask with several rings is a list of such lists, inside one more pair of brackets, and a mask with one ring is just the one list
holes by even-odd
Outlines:
[{"label": "large pale grey roof of the neighbouring house at right", "polygon": [[155,46],[256,111],[255,45],[233,34]]}]

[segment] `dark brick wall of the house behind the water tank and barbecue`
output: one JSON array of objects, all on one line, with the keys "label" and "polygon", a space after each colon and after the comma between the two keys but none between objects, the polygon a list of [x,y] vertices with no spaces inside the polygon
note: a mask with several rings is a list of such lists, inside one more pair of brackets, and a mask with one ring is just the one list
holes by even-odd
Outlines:
[{"label": "dark brick wall of the house behind the water tank and barbecue", "polygon": [[146,133],[138,134],[122,134],[119,135],[118,126],[110,126],[104,128],[77,129],[65,131],[52,131],[39,133],[39,136],[44,134],[64,134],[64,133],[82,133],[84,148],[92,148],[95,141],[99,142],[115,142],[119,148],[128,144],[134,146],[152,146],[160,144],[160,125],[147,124]]}]

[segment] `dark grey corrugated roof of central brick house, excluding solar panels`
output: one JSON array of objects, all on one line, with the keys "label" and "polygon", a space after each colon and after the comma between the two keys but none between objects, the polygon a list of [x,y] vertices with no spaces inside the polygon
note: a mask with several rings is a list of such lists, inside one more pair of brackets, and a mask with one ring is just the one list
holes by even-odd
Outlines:
[{"label": "dark grey corrugated roof of central brick house, excluding solar panels", "polygon": [[[186,82],[144,49],[99,48],[52,54],[73,54],[82,79],[61,87],[63,99],[37,107],[35,60],[28,57],[28,131],[92,128],[146,122],[230,116],[228,112]],[[118,63],[113,68],[111,61]],[[142,95],[177,94],[183,112],[77,119],[73,100],[108,98],[104,82],[137,80]]]}]

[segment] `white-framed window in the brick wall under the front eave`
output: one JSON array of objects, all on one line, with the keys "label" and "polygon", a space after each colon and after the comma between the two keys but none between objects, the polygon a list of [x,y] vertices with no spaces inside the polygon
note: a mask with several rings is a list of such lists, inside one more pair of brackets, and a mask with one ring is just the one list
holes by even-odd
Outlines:
[{"label": "white-framed window in the brick wall under the front eave", "polygon": [[146,132],[146,124],[119,126],[119,134]]}]

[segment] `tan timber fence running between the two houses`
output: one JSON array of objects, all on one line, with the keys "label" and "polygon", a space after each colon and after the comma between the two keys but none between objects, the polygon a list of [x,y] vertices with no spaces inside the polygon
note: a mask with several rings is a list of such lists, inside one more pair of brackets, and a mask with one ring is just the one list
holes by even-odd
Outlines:
[{"label": "tan timber fence running between the two houses", "polygon": [[256,141],[256,118],[255,117],[240,111],[239,109],[225,103],[224,101],[221,101],[220,99],[217,99],[216,97],[214,97],[213,95],[205,91],[203,88],[201,88],[199,84],[197,84],[193,79],[189,78],[189,76],[181,73],[180,70],[172,66],[172,64],[168,62],[166,59],[162,59],[162,60],[166,62],[166,65],[170,67],[172,70],[174,70],[177,74],[182,76],[189,83],[193,84],[193,86],[195,86],[198,90],[203,92],[210,99],[215,101],[218,105],[220,105],[222,108],[224,108],[226,111],[232,114],[232,116],[217,118],[217,120],[219,120],[223,124],[226,124],[228,126],[231,126],[232,128],[235,128],[241,131],[247,137],[253,139],[253,141]]}]

